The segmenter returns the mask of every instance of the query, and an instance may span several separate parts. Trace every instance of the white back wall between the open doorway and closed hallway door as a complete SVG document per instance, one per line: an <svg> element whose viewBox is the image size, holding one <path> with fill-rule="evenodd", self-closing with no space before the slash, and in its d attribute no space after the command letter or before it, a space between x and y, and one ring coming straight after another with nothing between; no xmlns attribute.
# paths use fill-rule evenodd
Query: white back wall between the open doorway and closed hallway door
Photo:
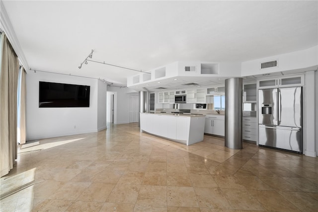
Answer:
<svg viewBox="0 0 318 212"><path fill-rule="evenodd" d="M114 95L114 124L129 123L129 96L139 95L138 92L129 88L118 88L110 86L107 91Z"/></svg>

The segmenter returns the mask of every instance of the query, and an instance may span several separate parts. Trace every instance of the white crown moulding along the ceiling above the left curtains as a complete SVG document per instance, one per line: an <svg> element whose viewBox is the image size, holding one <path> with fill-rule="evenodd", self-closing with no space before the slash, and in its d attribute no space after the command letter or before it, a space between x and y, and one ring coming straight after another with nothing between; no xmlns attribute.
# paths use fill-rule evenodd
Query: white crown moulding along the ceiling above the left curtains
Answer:
<svg viewBox="0 0 318 212"><path fill-rule="evenodd" d="M24 56L19 40L15 35L14 29L6 13L2 0L0 0L0 8L0 28L3 30L6 37L10 41L11 46L18 56L20 63L23 65L25 71L27 72L29 70L29 64L27 63L27 60Z"/></svg>

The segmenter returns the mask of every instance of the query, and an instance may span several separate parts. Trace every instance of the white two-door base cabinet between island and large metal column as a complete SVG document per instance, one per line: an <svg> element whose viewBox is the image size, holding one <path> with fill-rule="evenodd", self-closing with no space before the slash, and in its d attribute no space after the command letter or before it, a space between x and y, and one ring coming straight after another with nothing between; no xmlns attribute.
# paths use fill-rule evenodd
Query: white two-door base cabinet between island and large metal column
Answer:
<svg viewBox="0 0 318 212"><path fill-rule="evenodd" d="M225 135L224 115L206 115L204 133L213 135Z"/></svg>

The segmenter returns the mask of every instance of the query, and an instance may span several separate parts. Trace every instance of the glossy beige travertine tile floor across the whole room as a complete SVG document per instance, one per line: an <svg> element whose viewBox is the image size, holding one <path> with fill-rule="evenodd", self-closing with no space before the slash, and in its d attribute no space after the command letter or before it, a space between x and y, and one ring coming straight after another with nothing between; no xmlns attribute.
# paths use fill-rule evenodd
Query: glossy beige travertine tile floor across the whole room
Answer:
<svg viewBox="0 0 318 212"><path fill-rule="evenodd" d="M185 146L136 123L20 146L1 211L318 211L318 158L204 136Z"/></svg>

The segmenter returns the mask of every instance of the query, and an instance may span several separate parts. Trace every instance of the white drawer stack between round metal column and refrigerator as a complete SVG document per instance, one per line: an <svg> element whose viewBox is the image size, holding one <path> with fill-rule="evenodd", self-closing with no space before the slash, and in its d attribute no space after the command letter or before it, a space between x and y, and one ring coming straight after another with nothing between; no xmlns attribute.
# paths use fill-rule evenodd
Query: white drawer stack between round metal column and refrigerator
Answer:
<svg viewBox="0 0 318 212"><path fill-rule="evenodd" d="M243 127L242 138L244 140L256 141L257 139L257 120L256 117L244 116L243 117Z"/></svg>

